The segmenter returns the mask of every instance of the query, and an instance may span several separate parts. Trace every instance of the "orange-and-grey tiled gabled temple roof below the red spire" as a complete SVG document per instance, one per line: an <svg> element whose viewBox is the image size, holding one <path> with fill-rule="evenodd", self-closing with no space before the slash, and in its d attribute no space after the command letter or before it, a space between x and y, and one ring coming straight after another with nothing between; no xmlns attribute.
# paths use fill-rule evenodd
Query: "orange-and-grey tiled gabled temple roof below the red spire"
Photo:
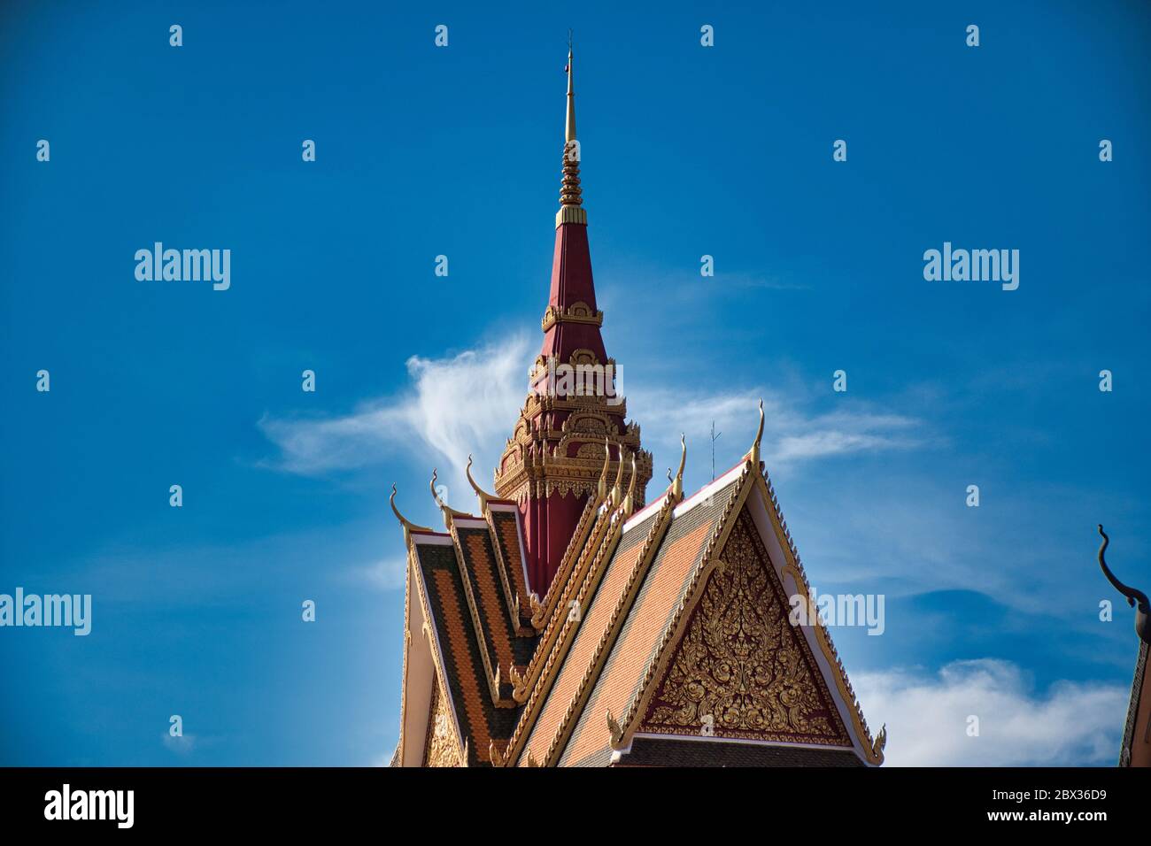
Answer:
<svg viewBox="0 0 1151 846"><path fill-rule="evenodd" d="M809 588L759 439L686 500L681 473L640 510L634 489L601 486L557 599L550 611L533 602L531 619L508 563L521 531L509 503L481 497L479 516L443 506L447 533L405 526L410 589L429 620L407 649L433 643L470 765L883 761L885 734L871 738L826 630L787 620L788 594ZM741 643L709 634L726 630L724 613L744 620ZM708 662L750 673L754 695L726 670L696 679ZM401 746L422 742L430 718L405 718Z"/></svg>

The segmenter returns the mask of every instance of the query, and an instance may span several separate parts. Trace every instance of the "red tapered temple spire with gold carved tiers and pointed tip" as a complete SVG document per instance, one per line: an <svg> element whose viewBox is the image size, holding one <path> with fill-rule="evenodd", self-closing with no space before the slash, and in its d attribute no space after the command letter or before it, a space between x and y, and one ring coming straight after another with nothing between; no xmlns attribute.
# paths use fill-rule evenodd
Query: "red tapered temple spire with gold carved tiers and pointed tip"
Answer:
<svg viewBox="0 0 1151 846"><path fill-rule="evenodd" d="M631 481L637 454L637 504L651 478L651 456L640 449L640 429L627 422L617 388L615 359L608 358L596 307L587 211L580 189L580 145L576 138L572 52L567 51L567 119L563 181L556 213L551 290L541 327L543 345L528 376L528 396L496 470L496 493L514 500L524 518L531 589L543 596L559 569L609 452L616 478L623 450L623 485Z"/></svg>

